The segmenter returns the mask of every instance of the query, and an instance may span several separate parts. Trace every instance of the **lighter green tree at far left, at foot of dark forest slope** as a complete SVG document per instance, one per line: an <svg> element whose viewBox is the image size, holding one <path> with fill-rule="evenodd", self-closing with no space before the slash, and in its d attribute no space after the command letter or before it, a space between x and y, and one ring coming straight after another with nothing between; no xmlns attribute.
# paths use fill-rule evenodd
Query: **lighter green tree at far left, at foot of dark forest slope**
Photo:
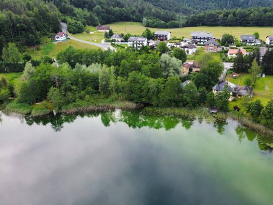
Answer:
<svg viewBox="0 0 273 205"><path fill-rule="evenodd" d="M22 61L22 55L14 43L9 43L9 47L3 49L2 58L6 63L19 63Z"/></svg>

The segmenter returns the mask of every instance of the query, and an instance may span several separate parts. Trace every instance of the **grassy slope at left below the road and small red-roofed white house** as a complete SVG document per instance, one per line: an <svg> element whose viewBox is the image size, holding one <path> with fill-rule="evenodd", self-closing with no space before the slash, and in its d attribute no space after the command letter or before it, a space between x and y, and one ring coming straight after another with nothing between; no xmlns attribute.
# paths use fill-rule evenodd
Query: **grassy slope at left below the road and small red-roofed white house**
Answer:
<svg viewBox="0 0 273 205"><path fill-rule="evenodd" d="M45 55L55 58L58 52L65 50L70 45L76 49L82 49L82 48L98 49L99 48L97 46L81 43L75 40L67 40L65 42L59 42L57 44L54 44L48 41L47 43L41 44L40 50L32 49L30 53L33 58L40 58Z"/></svg>

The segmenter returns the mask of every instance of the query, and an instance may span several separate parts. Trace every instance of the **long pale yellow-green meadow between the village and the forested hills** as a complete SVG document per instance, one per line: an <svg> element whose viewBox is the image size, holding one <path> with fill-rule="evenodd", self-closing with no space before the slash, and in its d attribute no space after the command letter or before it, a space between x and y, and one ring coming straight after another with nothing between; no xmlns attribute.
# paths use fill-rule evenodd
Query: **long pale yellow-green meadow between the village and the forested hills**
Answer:
<svg viewBox="0 0 273 205"><path fill-rule="evenodd" d="M141 35L145 30L145 27L139 22L116 22L113 24L108 24L111 29L117 33L131 33ZM176 29L158 29L149 28L151 31L161 30L170 31L171 37L191 37L191 31L207 31L213 33L215 37L220 38L223 33L230 33L236 38L240 38L241 34L253 34L254 32L259 32L260 38L265 40L266 36L273 34L272 27L223 27L223 26L199 26L199 27L185 27Z"/></svg>

